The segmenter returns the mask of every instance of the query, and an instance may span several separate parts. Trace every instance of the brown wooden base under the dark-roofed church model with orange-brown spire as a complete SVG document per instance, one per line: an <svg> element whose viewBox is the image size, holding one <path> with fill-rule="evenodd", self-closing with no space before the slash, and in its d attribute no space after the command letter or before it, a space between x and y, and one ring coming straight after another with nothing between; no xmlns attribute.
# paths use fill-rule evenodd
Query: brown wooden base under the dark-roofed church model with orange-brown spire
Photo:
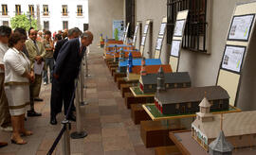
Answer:
<svg viewBox="0 0 256 155"><path fill-rule="evenodd" d="M127 109L130 109L132 104L154 103L154 96L136 97L132 93L125 93L124 97Z"/></svg>

